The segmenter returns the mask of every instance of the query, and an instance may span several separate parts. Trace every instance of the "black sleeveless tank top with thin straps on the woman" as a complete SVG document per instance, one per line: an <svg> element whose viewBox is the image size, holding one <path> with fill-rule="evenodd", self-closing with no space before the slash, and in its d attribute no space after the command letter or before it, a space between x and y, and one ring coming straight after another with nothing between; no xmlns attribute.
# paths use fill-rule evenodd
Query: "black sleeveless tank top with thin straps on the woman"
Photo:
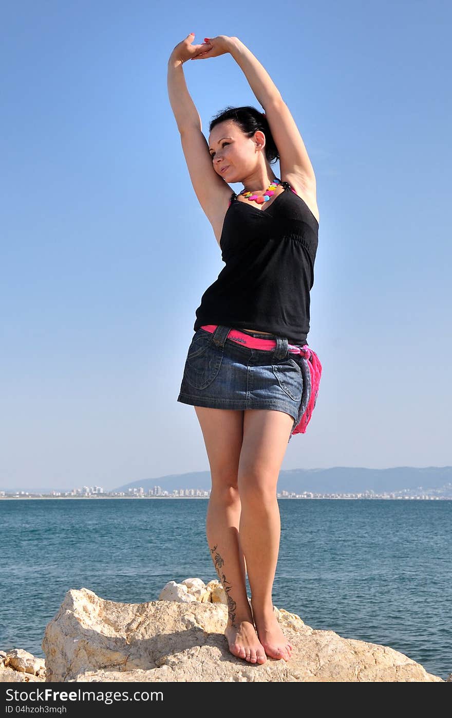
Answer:
<svg viewBox="0 0 452 718"><path fill-rule="evenodd" d="M225 266L201 298L204 324L253 329L306 344L319 223L288 182L265 210L232 192L220 237Z"/></svg>

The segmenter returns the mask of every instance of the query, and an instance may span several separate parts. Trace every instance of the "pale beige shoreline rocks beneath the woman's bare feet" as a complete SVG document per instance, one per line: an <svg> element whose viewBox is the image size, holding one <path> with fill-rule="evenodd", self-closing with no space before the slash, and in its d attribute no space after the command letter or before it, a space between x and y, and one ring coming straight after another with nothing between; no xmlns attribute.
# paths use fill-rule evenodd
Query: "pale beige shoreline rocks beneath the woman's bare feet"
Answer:
<svg viewBox="0 0 452 718"><path fill-rule="evenodd" d="M71 589L45 629L45 666L27 651L0 651L0 681L444 682L385 645L315 630L274 610L291 659L251 664L227 647L226 595L216 580L170 581L159 600L138 604Z"/></svg>

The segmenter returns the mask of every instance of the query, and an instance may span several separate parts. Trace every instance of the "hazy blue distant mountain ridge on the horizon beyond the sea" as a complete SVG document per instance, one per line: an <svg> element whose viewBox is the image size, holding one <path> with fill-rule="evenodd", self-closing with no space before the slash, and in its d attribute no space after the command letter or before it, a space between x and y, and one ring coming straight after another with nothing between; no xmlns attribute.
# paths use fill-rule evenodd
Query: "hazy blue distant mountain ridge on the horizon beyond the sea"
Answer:
<svg viewBox="0 0 452 718"><path fill-rule="evenodd" d="M147 492L154 486L160 486L169 493L174 489L185 488L209 490L210 472L196 471L141 479L111 490L127 491L142 487ZM423 493L428 489L438 488L448 490L452 496L452 466L399 466L390 469L337 466L331 469L291 469L281 470L278 479L278 492L359 493L373 490L380 494L407 489Z"/></svg>

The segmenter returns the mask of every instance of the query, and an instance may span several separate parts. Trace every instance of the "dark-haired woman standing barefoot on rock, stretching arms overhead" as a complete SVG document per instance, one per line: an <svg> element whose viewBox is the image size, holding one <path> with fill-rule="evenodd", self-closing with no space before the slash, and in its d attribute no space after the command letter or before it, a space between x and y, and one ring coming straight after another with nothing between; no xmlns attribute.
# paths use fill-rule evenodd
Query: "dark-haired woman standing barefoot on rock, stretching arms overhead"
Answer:
<svg viewBox="0 0 452 718"><path fill-rule="evenodd" d="M311 418L321 374L306 343L316 180L288 107L250 50L237 37L193 39L190 33L171 53L169 100L225 267L197 309L178 401L194 406L209 459L207 540L227 596L229 650L250 663L288 661L292 646L272 601L281 533L276 484L291 435ZM265 114L227 108L210 123L207 144L182 65L227 52ZM227 182L244 190L231 194Z"/></svg>

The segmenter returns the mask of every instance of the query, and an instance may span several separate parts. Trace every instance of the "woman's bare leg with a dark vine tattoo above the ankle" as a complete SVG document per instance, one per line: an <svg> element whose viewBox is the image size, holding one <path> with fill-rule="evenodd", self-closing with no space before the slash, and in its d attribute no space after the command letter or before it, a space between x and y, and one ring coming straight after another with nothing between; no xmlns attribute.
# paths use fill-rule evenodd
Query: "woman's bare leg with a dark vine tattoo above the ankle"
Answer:
<svg viewBox="0 0 452 718"><path fill-rule="evenodd" d="M212 475L206 533L215 570L227 596L225 636L230 652L250 663L267 660L253 624L246 592L245 558L239 541L237 470L243 441L243 411L194 407Z"/></svg>

